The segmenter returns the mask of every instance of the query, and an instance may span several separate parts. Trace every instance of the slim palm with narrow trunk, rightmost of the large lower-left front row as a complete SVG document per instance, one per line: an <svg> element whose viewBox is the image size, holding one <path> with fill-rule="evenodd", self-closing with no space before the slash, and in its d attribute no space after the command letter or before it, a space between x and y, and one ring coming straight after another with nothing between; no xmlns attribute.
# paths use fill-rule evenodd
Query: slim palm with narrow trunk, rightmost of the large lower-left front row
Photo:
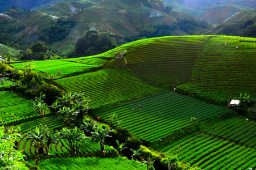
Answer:
<svg viewBox="0 0 256 170"><path fill-rule="evenodd" d="M101 151L105 151L104 143L105 143L105 138L106 137L111 137L109 134L108 129L103 129L102 125L97 126L94 128L94 132L92 132L95 141L94 142L100 142L101 145Z"/></svg>

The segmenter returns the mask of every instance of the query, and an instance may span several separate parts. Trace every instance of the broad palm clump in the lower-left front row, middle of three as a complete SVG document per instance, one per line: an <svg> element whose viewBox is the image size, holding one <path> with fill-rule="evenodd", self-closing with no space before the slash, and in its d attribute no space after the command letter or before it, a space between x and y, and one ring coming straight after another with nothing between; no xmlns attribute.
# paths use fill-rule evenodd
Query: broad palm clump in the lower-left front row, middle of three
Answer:
<svg viewBox="0 0 256 170"><path fill-rule="evenodd" d="M68 141L72 154L79 154L81 143L86 143L84 140L88 138L85 136L84 132L79 131L77 127L73 130L63 128L63 130L60 131L60 137L61 139Z"/></svg>

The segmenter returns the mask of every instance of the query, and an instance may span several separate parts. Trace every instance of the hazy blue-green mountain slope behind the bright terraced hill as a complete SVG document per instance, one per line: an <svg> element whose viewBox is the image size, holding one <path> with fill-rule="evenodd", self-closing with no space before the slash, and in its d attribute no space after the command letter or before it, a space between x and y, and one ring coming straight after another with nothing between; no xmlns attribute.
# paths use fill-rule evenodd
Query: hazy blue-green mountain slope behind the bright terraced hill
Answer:
<svg viewBox="0 0 256 170"><path fill-rule="evenodd" d="M64 54L70 52L70 44L75 46L77 39L89 29L110 32L115 39L122 41L133 41L144 37L201 35L205 29L212 28L192 15L175 10L166 14L159 10L143 3L121 0L97 4L89 1L61 2L33 11L14 7L3 13L14 23L0 22L3 27L1 39L26 47L36 41L45 41Z"/></svg>

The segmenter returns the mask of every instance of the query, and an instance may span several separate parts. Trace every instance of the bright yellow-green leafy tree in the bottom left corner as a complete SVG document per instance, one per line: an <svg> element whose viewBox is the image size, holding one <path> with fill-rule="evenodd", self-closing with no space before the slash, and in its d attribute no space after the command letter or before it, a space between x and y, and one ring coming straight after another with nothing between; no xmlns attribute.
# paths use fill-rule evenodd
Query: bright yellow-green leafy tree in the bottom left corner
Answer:
<svg viewBox="0 0 256 170"><path fill-rule="evenodd" d="M0 167L1 169L28 169L24 164L24 155L15 150L15 142L21 137L20 129L13 126L5 128L0 126Z"/></svg>

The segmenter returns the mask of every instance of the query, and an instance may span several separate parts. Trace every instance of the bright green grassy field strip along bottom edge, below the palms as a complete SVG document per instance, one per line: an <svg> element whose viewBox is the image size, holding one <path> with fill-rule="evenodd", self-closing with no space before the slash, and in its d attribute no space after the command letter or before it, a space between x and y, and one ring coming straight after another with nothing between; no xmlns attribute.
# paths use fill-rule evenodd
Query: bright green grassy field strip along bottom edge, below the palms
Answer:
<svg viewBox="0 0 256 170"><path fill-rule="evenodd" d="M28 166L34 167L34 160L27 163ZM135 162L133 160L126 160L124 158L51 158L40 160L38 166L40 169L146 169L145 164Z"/></svg>

